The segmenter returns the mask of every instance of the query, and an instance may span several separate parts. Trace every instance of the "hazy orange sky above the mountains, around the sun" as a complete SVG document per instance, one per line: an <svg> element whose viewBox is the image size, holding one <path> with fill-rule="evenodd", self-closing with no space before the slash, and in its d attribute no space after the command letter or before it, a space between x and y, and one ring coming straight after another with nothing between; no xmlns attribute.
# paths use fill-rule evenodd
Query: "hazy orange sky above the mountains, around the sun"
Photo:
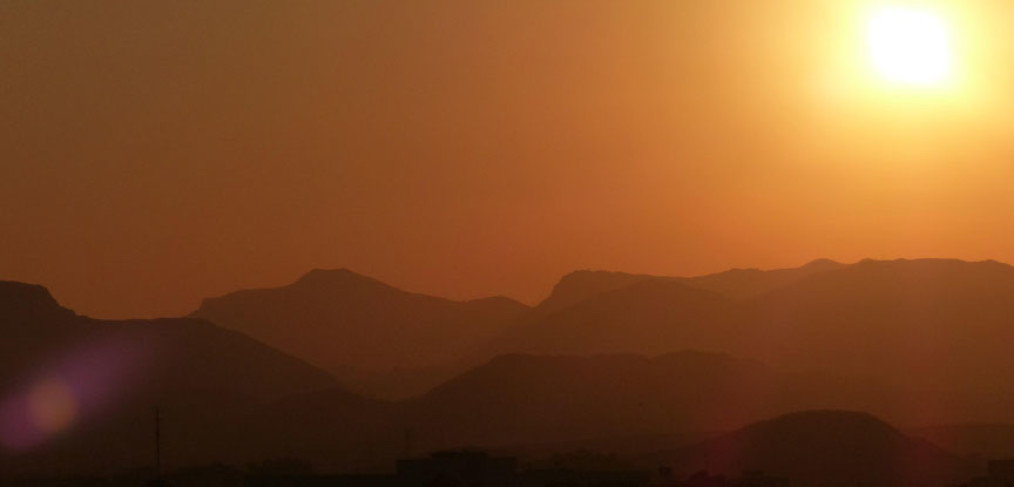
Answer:
<svg viewBox="0 0 1014 487"><path fill-rule="evenodd" d="M0 0L0 279L123 318L312 268L1014 262L1014 12L934 3L940 90L870 72L870 2Z"/></svg>

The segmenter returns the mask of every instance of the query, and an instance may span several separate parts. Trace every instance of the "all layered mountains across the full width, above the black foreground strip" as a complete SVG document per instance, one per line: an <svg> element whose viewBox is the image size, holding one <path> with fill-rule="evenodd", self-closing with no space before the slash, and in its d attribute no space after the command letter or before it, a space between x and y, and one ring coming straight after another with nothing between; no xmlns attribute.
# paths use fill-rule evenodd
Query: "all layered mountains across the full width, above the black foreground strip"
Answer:
<svg viewBox="0 0 1014 487"><path fill-rule="evenodd" d="M531 307L318 270L206 299L187 318L115 322L0 282L0 473L7 458L25 471L55 459L68 471L147 465L156 405L180 465L294 457L372 469L411 451L665 437L682 439L638 458L690 469L686 438L722 450L735 442L722 434L769 438L745 424L843 409L958 454L1002 454L1014 451L1012 320L1014 268L992 261L578 271Z"/></svg>

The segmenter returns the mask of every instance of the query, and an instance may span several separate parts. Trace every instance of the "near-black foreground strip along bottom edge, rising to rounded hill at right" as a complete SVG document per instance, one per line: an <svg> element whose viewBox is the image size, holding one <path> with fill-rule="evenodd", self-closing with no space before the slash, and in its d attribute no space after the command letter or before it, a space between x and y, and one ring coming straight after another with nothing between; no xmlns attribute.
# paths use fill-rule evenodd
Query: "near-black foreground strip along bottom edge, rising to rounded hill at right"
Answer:
<svg viewBox="0 0 1014 487"><path fill-rule="evenodd" d="M1010 462L991 464L990 484L1009 477ZM864 413L805 411L748 425L733 433L673 451L636 459L578 450L524 462L479 449L443 450L399 460L376 473L315 473L294 460L179 469L163 485L247 486L621 486L870 487L955 485L973 469L968 462L906 436ZM145 471L87 480L91 485L131 485ZM151 475L148 471L147 475ZM19 485L13 482L11 485ZM27 483L25 485L28 485ZM63 485L59 481L30 485ZM136 484L135 484L136 485ZM973 484L980 485L980 484Z"/></svg>

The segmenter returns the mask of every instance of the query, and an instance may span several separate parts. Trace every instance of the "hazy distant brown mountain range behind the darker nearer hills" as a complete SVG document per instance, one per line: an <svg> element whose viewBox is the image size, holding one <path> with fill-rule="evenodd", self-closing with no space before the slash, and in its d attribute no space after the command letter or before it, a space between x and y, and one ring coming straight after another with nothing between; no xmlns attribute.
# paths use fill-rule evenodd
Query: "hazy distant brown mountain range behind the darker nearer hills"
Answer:
<svg viewBox="0 0 1014 487"><path fill-rule="evenodd" d="M993 261L817 260L701 277L578 271L542 302L451 301L352 271L208 299L193 317L247 334L388 400L503 354L709 350L787 371L922 392L899 419L1014 420L1014 268ZM896 402L906 397L895 398Z"/></svg>

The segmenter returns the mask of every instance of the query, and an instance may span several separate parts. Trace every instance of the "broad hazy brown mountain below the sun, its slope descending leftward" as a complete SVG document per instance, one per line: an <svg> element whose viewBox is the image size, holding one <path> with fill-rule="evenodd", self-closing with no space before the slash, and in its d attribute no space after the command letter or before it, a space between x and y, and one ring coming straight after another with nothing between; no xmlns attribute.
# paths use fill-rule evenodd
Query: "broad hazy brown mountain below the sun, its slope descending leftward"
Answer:
<svg viewBox="0 0 1014 487"><path fill-rule="evenodd" d="M1014 385L1005 379L1014 371L1006 346L1014 339L1012 317L1014 268L1005 264L818 261L694 279L642 276L535 317L491 348L723 351L778 369L875 377L883 388L919 391L918 399L893 399L900 416L892 420L1002 422L1014 420Z"/></svg>

